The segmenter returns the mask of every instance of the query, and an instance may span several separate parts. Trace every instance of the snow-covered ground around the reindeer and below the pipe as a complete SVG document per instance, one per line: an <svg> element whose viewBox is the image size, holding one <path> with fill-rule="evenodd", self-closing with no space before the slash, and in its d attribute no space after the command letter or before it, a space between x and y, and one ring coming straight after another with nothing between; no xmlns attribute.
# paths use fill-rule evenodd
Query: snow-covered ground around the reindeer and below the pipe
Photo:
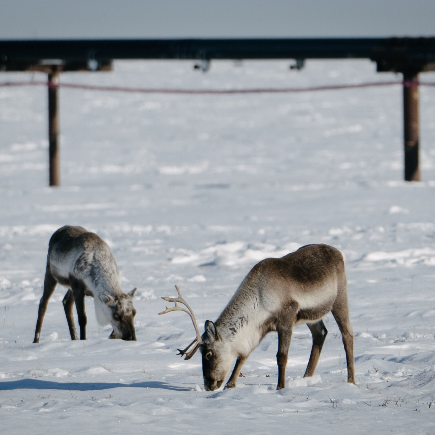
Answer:
<svg viewBox="0 0 435 435"><path fill-rule="evenodd" d="M243 88L400 80L363 60L118 62L68 83ZM28 80L2 73L0 79ZM35 80L43 76L35 74ZM422 80L435 80L422 75ZM62 187L47 187L47 90L0 88L0 432L435 434L435 89L421 88L420 183L402 181L400 86L303 94L146 95L60 90ZM108 340L87 298L71 341L58 288L32 344L47 244L64 224L110 245L137 287L136 342ZM308 243L346 254L358 386L334 318L312 378L294 329L287 388L277 336L237 388L204 391L178 284L215 320L250 268ZM202 326L201 326L202 328Z"/></svg>

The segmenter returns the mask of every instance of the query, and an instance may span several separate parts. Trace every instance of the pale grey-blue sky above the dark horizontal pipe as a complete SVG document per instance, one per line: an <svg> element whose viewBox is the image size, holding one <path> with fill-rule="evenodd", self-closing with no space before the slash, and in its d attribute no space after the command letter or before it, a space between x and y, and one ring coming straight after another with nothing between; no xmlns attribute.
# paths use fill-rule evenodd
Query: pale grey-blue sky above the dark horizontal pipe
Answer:
<svg viewBox="0 0 435 435"><path fill-rule="evenodd" d="M0 0L1 39L435 36L435 0Z"/></svg>

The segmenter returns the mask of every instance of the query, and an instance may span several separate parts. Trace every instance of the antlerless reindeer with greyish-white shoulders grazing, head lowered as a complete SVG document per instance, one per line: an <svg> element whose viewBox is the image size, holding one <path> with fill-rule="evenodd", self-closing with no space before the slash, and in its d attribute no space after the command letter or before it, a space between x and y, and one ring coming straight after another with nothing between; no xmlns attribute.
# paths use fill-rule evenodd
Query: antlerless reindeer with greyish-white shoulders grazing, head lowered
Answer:
<svg viewBox="0 0 435 435"><path fill-rule="evenodd" d="M86 340L85 296L94 298L98 323L102 326L112 325L109 338L136 340L133 322L136 310L132 302L136 288L128 294L122 291L112 251L97 234L82 227L66 225L51 236L33 343L39 343L47 304L57 283L69 288L63 303L71 340L78 340L73 316L74 302L80 325L80 340Z"/></svg>

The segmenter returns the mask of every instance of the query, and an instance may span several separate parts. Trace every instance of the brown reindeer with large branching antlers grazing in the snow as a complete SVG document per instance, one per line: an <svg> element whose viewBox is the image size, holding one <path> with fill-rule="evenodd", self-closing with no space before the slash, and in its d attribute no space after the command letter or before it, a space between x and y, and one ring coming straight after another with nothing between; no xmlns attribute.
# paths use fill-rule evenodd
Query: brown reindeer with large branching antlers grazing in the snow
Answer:
<svg viewBox="0 0 435 435"><path fill-rule="evenodd" d="M177 355L190 359L201 349L204 387L214 391L221 387L231 370L225 388L234 388L241 368L262 338L278 331L278 386L285 387L285 368L294 325L306 323L313 345L304 377L314 375L328 331L322 318L329 311L343 337L348 367L348 382L355 384L353 331L349 321L346 274L343 255L326 244L311 244L281 258L267 258L256 264L240 284L218 320L207 320L204 334L198 331L192 309L175 286L178 298L159 314L185 311L192 319L196 338ZM187 310L177 305L184 304ZM191 349L189 351L189 348Z"/></svg>

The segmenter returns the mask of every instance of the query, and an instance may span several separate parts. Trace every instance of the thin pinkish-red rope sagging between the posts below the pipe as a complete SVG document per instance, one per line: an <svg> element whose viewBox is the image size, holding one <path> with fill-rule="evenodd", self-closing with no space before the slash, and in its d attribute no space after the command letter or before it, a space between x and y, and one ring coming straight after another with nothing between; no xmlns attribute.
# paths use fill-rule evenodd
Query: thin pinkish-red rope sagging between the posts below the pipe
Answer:
<svg viewBox="0 0 435 435"><path fill-rule="evenodd" d="M289 87L289 88L257 88L257 89L153 89L153 88L133 88L133 87L119 87L119 86L96 86L86 84L72 84L72 83L54 83L52 81L27 81L27 82L6 82L0 83L0 87L13 87L13 86L41 86L45 85L53 88L69 88L69 89L83 89L83 90L105 90L116 92L136 92L143 94L279 94L279 93L292 93L292 92L310 92L316 90L340 90L340 89L353 89L361 87L372 86L391 86L401 84L405 87L415 86L435 86L432 82L413 82L413 81L384 81L384 82L370 82L359 84L341 84L341 85L325 85L325 86L311 86L311 87Z"/></svg>

